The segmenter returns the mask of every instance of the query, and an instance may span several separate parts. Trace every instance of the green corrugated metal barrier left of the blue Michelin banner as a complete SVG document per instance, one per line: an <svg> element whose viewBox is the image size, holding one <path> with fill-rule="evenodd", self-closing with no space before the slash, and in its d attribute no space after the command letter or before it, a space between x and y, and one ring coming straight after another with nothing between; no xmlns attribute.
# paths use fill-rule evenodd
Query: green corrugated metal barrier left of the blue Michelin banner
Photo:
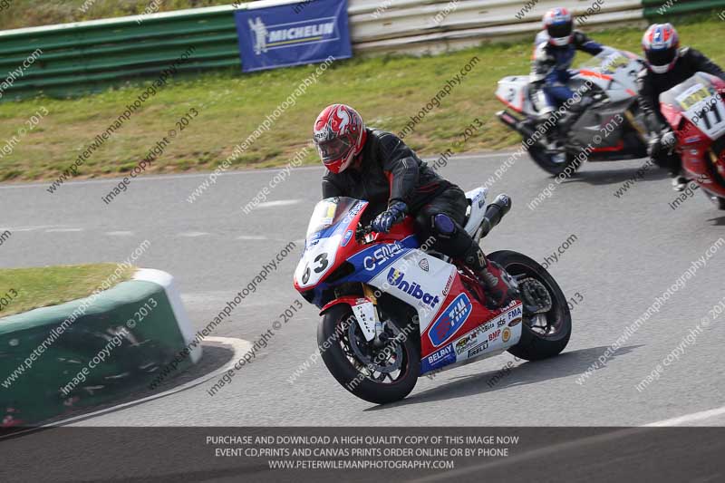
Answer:
<svg viewBox="0 0 725 483"><path fill-rule="evenodd" d="M2 99L101 91L120 81L151 79L194 47L178 72L240 68L232 8L208 8L0 32ZM40 49L42 53L30 62ZM18 69L29 64L22 75ZM15 72L15 74L13 74ZM10 78L10 82L8 82ZM12 85L10 85L12 83Z"/></svg>

